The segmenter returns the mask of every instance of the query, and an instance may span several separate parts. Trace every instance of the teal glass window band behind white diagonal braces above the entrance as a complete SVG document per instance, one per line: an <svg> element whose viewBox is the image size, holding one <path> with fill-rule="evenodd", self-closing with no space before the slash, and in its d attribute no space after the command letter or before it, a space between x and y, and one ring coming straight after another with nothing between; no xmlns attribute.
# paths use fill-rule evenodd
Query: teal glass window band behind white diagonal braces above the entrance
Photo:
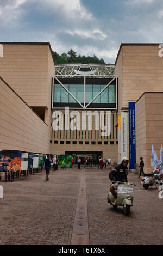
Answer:
<svg viewBox="0 0 163 256"><path fill-rule="evenodd" d="M84 84L64 84L69 92L80 102L84 102ZM104 84L85 84L85 102L89 103L101 90ZM76 103L76 100L60 85L54 84L55 103ZM116 103L116 86L110 84L92 103Z"/></svg>

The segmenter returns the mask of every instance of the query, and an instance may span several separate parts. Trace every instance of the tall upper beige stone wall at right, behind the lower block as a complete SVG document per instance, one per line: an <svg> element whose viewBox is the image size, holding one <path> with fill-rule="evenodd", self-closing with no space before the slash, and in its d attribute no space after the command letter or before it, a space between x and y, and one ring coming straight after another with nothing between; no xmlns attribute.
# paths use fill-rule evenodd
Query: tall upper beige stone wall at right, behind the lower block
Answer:
<svg viewBox="0 0 163 256"><path fill-rule="evenodd" d="M162 92L163 57L156 45L122 46L115 74L118 76L118 109L127 108L144 92ZM122 82L121 82L122 79Z"/></svg>

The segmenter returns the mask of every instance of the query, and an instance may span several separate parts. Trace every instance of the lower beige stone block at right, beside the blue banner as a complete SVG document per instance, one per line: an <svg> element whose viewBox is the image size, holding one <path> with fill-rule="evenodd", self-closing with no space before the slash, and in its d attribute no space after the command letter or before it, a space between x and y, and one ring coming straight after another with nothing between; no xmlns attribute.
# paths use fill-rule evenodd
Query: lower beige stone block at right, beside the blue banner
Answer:
<svg viewBox="0 0 163 256"><path fill-rule="evenodd" d="M160 158L163 145L163 93L145 93L136 102L136 162L143 157L145 172L151 172L151 150Z"/></svg>

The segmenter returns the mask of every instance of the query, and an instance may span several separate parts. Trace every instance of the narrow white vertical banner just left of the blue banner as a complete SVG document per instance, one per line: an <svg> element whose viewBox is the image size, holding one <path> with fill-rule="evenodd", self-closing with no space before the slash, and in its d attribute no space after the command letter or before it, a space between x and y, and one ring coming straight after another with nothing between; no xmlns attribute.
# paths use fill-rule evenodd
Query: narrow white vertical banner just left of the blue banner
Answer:
<svg viewBox="0 0 163 256"><path fill-rule="evenodd" d="M121 113L121 159L127 157L127 113Z"/></svg>

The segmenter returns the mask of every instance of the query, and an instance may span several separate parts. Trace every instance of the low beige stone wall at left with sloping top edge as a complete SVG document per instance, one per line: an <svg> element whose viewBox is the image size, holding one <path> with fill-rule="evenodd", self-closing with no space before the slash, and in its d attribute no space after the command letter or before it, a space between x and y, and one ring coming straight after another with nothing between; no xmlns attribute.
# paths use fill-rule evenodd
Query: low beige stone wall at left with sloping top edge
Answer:
<svg viewBox="0 0 163 256"><path fill-rule="evenodd" d="M49 153L48 126L0 78L0 150Z"/></svg>

